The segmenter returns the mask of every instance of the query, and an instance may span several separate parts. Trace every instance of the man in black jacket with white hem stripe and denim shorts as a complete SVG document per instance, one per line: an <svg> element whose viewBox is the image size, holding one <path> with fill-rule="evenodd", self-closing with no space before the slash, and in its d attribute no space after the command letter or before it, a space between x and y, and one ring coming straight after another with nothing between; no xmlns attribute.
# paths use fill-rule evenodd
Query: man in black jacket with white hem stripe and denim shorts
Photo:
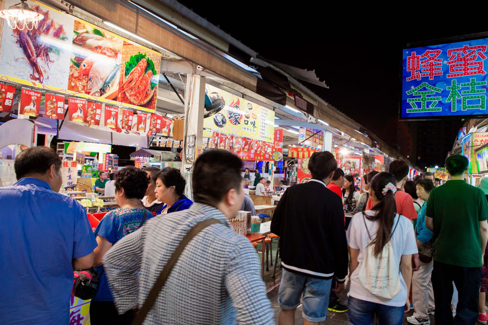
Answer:
<svg viewBox="0 0 488 325"><path fill-rule="evenodd" d="M327 318L332 278L333 291L344 290L347 276L347 241L341 198L326 188L337 161L332 153L313 153L308 162L312 179L285 191L271 222L280 236L283 274L278 294L280 324L293 324L303 295L304 324Z"/></svg>

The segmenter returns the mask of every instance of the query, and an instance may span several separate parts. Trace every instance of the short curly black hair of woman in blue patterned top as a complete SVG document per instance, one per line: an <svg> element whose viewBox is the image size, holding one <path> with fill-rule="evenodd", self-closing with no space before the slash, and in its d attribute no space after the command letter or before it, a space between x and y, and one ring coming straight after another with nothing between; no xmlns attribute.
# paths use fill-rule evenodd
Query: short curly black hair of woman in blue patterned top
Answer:
<svg viewBox="0 0 488 325"><path fill-rule="evenodd" d="M142 199L149 185L149 178L146 172L134 166L127 166L117 172L115 190L123 189L124 195L128 199Z"/></svg>

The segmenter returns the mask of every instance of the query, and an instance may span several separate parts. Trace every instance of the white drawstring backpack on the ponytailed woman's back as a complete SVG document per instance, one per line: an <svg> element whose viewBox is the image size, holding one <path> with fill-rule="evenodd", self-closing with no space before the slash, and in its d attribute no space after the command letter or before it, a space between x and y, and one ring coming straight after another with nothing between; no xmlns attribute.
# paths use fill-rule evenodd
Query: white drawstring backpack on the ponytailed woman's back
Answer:
<svg viewBox="0 0 488 325"><path fill-rule="evenodd" d="M391 236L395 232L400 216L398 216L395 228L391 232ZM394 219L393 219L394 220ZM363 221L366 227L366 220L363 214ZM385 301L393 299L401 290L400 277L398 276L399 265L395 259L395 251L390 240L383 247L383 251L374 255L374 243L372 243L371 235L366 227L369 236L369 244L363 254L363 264L359 270L359 282L376 297Z"/></svg>

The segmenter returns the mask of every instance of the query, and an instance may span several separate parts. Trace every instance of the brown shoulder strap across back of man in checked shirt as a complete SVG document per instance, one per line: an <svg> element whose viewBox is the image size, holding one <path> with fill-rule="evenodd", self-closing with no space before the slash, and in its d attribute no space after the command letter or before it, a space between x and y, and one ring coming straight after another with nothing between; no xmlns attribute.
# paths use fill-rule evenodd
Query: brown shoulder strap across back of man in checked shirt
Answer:
<svg viewBox="0 0 488 325"><path fill-rule="evenodd" d="M132 325L141 325L144 322L144 319L146 318L147 314L149 313L152 306L156 302L156 299L158 298L159 293L163 289L164 284L166 283L166 280L169 274L171 273L171 270L175 266L176 262L178 261L178 258L180 257L186 245L193 239L193 237L195 237L200 231L202 231L206 227L214 224L220 224L220 223L221 222L217 219L206 219L199 222L192 229L190 229L190 231L188 231L188 233L183 237L183 240L180 242L176 250L173 252L173 254L171 254L171 257L169 258L166 265L163 267L163 270L159 274L158 279L156 279L156 282L151 288L151 291L149 291L146 301L144 301L144 304L142 305L141 309L139 309L139 312L137 313L134 321L132 322Z"/></svg>

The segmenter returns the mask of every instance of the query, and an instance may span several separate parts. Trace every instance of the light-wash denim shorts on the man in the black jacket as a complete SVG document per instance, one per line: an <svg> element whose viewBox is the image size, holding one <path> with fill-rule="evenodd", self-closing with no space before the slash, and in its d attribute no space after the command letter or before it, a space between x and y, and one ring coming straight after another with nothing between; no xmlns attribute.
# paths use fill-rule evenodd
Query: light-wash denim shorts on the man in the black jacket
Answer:
<svg viewBox="0 0 488 325"><path fill-rule="evenodd" d="M323 322L327 318L331 282L332 279L311 278L283 268L278 304L285 310L295 309L303 296L303 318L312 323Z"/></svg>

